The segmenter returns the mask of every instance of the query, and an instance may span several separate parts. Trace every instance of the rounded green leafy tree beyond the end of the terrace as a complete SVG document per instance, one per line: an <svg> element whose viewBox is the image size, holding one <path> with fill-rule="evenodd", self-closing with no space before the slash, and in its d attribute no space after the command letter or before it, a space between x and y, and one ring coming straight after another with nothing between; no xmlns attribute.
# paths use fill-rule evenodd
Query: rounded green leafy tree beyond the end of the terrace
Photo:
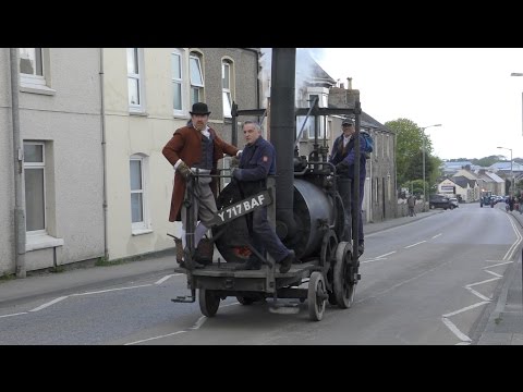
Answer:
<svg viewBox="0 0 523 392"><path fill-rule="evenodd" d="M404 186L412 180L423 181L423 142L425 139L425 176L427 182L436 180L439 161L431 159L433 144L417 124L409 119L398 119L385 123L396 132L396 168L398 184ZM440 162L440 161L439 161Z"/></svg>

